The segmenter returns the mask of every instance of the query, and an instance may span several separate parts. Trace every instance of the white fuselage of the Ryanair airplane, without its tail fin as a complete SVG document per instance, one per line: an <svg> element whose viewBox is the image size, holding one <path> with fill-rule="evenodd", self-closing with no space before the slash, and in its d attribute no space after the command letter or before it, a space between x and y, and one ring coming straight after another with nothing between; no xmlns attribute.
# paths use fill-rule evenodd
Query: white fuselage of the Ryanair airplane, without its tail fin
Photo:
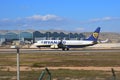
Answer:
<svg viewBox="0 0 120 80"><path fill-rule="evenodd" d="M34 43L37 47L49 47L51 45L57 45L60 43L61 40L39 40L37 43ZM87 45L92 45L94 44L93 41L88 41L88 40L62 40L62 43L65 46L87 46Z"/></svg>

